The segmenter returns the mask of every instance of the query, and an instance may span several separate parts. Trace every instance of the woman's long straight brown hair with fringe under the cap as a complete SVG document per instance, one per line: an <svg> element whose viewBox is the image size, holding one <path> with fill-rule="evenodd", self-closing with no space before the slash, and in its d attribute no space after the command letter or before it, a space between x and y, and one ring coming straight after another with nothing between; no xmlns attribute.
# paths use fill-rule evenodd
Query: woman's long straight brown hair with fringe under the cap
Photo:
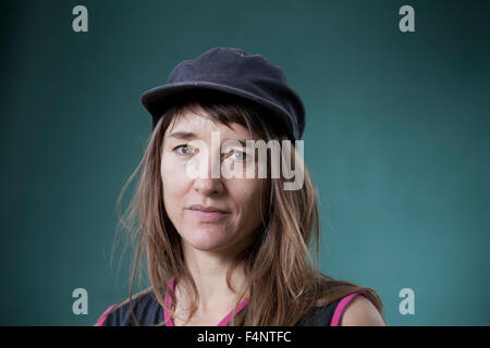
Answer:
<svg viewBox="0 0 490 348"><path fill-rule="evenodd" d="M199 294L186 268L180 235L166 213L163 206L162 182L160 176L161 149L166 129L183 113L210 115L229 125L238 123L250 134L261 136L266 142L271 139L287 139L284 129L268 122L266 109L225 95L198 92L175 98L167 112L156 124L146 140L146 149L138 166L130 176L118 199L119 227L128 231L135 245L131 271L130 296L115 306L115 311L130 303L133 320L133 300L143 294L152 291L158 302L173 316L176 302L175 293L169 282L188 284L192 290L193 306L191 316L197 309ZM297 156L292 151L293 163L298 164ZM304 165L304 164L303 164ZM136 192L130 206L121 215L121 201L128 184L140 172ZM269 177L269 176L268 176ZM256 243L244 250L230 266L226 283L236 293L235 308L244 294L249 294L248 304L230 322L231 325L294 325L310 309L326 306L338 299L363 290L376 306L382 316L382 301L376 290L360 287L350 282L333 279L318 269L320 221L318 195L306 166L304 166L304 185L298 190L284 190L284 178L269 178L269 194L262 199L269 206L262 219ZM315 263L309 252L310 239L314 237ZM133 295L133 285L138 270L142 276L142 256L146 256L147 275L151 286ZM247 282L241 289L231 287L231 274L238 265L245 265ZM172 308L164 303L164 294L172 298ZM383 319L384 320L384 319ZM136 323L138 324L138 323ZM160 323L159 325L163 325Z"/></svg>

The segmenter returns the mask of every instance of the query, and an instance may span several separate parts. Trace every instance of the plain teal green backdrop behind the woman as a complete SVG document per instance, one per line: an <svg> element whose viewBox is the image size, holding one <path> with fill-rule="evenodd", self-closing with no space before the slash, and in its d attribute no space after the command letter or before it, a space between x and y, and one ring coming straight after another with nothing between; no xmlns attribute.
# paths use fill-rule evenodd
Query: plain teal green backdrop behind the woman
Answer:
<svg viewBox="0 0 490 348"><path fill-rule="evenodd" d="M88 9L88 33L72 9ZM415 33L399 9L415 9ZM91 325L127 295L115 201L139 95L211 47L283 67L307 110L321 269L390 325L489 325L489 1L2 1L1 325ZM118 259L117 259L118 260ZM88 291L74 315L72 291ZM415 314L402 315L402 288Z"/></svg>

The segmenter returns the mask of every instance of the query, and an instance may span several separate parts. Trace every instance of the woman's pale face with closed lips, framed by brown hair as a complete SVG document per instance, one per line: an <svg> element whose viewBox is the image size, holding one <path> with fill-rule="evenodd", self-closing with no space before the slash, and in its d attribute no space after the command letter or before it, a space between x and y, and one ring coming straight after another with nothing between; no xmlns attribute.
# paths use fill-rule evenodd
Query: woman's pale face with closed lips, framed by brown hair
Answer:
<svg viewBox="0 0 490 348"><path fill-rule="evenodd" d="M246 152L245 147L235 144L222 149L222 145L226 140L250 139L249 133L237 123L231 123L230 127L185 110L164 133L160 167L163 201L184 248L238 252L254 241L253 233L262 223L268 207L267 179L257 175L225 178L221 172L220 177L211 175L211 161L246 165L243 154L237 152ZM218 132L212 142L211 132ZM216 135L219 135L219 141ZM207 151L203 147L197 148L196 140L207 147ZM189 175L188 166L196 169L196 165L205 163L207 175ZM264 201L261 206L260 199ZM224 212L204 212L193 206L213 207Z"/></svg>

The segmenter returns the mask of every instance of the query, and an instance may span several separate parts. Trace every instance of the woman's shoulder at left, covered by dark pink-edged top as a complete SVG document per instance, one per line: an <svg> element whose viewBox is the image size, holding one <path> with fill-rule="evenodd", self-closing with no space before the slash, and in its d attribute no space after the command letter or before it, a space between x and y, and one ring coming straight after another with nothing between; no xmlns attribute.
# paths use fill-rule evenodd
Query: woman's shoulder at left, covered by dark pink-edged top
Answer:
<svg viewBox="0 0 490 348"><path fill-rule="evenodd" d="M133 297L131 302L127 299L109 307L100 315L96 326L155 325L161 316L162 308L154 293L145 290Z"/></svg>

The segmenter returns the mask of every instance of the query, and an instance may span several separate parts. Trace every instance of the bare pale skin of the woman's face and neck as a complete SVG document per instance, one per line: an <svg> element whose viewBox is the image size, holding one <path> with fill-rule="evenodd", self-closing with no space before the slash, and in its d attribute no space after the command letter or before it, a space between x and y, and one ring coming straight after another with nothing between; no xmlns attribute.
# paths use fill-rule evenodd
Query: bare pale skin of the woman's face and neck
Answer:
<svg viewBox="0 0 490 348"><path fill-rule="evenodd" d="M215 163L228 165L243 159L237 151L246 148L235 145L221 149L226 140L256 138L250 138L240 124L232 123L229 128L201 113L186 110L166 130L160 172L166 211L182 238L185 262L199 291L198 310L188 325L217 325L236 299L226 286L226 268L255 240L254 232L260 226L267 207L266 202L262 206L258 202L261 196L265 198L268 184L262 178L211 177L211 156L217 160ZM194 133L194 136L186 139L172 136L182 132ZM211 144L211 132L220 133L220 144ZM209 151L188 146L192 140L204 141ZM189 177L186 166L197 165L199 161L208 161L208 177ZM228 214L216 222L203 222L188 210L192 204L213 206ZM244 282L243 268L238 268L232 274L232 287ZM180 315L175 315L174 324L180 325L188 312L188 301L184 286L177 284L175 290Z"/></svg>

